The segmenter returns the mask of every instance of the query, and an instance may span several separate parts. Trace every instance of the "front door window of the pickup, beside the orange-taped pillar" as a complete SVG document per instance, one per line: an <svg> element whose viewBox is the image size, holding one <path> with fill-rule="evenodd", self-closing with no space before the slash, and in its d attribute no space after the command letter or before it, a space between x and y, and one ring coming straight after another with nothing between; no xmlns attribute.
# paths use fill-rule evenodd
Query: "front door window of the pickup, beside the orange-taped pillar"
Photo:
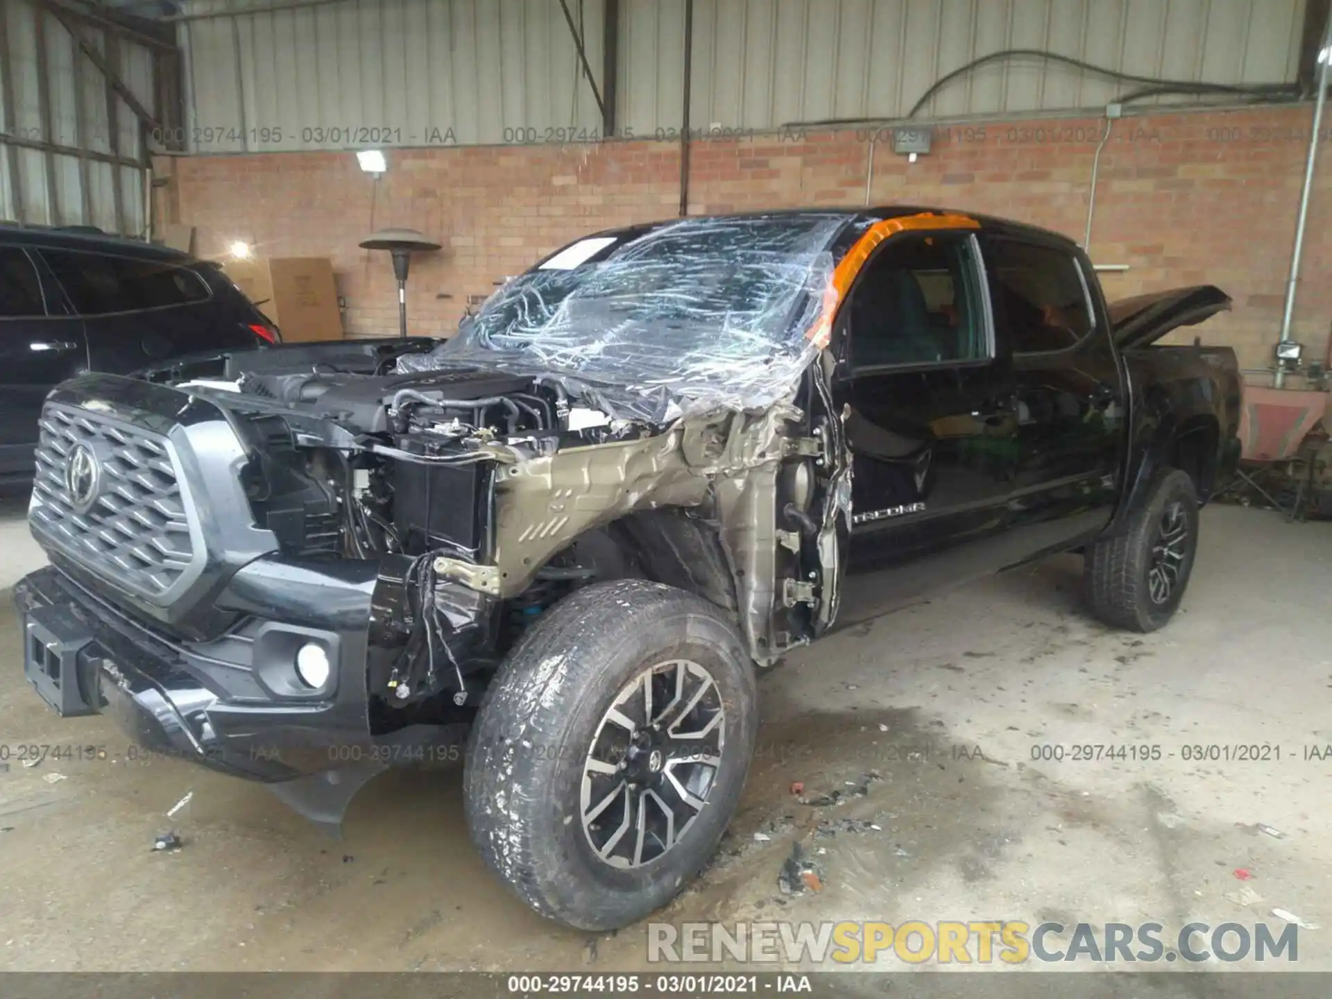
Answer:
<svg viewBox="0 0 1332 999"><path fill-rule="evenodd" d="M988 356L972 244L964 236L890 240L851 292L851 364L940 364Z"/></svg>

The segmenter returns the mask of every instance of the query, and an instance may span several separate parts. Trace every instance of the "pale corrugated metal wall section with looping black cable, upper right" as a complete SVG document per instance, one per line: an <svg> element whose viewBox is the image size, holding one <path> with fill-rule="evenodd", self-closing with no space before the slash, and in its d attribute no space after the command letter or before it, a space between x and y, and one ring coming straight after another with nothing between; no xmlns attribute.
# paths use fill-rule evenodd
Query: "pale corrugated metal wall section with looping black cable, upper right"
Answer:
<svg viewBox="0 0 1332 999"><path fill-rule="evenodd" d="M681 120L683 0L626 3L627 120L670 128ZM1303 17L1303 0L695 0L691 117L745 129L903 117L943 75L1018 48L1140 76L1288 83ZM958 79L920 115L1095 108L1126 89L1024 60Z"/></svg>

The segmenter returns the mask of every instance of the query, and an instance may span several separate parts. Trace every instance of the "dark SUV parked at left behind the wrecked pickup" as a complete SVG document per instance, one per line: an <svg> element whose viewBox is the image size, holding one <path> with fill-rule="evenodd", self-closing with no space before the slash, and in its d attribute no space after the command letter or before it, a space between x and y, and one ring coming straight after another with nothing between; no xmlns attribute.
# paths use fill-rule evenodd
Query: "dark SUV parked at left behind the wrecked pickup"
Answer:
<svg viewBox="0 0 1332 999"><path fill-rule="evenodd" d="M216 264L92 229L0 226L0 482L32 480L57 382L277 336Z"/></svg>

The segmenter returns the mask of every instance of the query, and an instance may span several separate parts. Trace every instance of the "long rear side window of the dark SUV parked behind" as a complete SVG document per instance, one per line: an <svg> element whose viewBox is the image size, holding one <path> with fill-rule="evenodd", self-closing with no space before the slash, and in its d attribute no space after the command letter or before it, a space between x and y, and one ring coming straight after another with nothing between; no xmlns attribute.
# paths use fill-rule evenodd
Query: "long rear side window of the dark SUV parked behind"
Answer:
<svg viewBox="0 0 1332 999"><path fill-rule="evenodd" d="M43 250L75 309L84 316L160 309L208 298L208 286L192 270L152 260L103 253Z"/></svg>

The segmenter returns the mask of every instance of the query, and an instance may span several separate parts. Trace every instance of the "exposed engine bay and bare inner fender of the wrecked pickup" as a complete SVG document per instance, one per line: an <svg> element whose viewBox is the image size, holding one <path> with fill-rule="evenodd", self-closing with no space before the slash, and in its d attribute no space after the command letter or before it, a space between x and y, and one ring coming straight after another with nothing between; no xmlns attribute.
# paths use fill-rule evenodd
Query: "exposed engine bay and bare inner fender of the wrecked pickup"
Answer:
<svg viewBox="0 0 1332 999"><path fill-rule="evenodd" d="M783 404L657 424L551 376L398 370L418 352L148 373L229 414L256 526L284 554L380 562L372 633L401 654L368 677L373 729L474 707L525 630L590 582L699 593L763 665L831 623L850 470L817 365Z"/></svg>

